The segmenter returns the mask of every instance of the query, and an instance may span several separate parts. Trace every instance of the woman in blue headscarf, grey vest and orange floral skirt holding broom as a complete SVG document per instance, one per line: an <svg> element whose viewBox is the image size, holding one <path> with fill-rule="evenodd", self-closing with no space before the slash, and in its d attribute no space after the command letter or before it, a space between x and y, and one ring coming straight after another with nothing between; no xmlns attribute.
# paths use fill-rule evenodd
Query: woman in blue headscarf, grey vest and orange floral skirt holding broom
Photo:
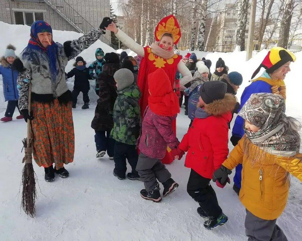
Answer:
<svg viewBox="0 0 302 241"><path fill-rule="evenodd" d="M26 122L32 120L33 157L39 166L44 167L45 181L53 181L55 173L61 178L68 177L69 173L63 165L72 162L74 157L72 96L65 81L67 62L98 40L103 34L102 29L109 23L110 19L104 18L100 28L62 45L53 41L48 23L35 21L20 61L14 62L21 70L17 79L19 108Z"/></svg>

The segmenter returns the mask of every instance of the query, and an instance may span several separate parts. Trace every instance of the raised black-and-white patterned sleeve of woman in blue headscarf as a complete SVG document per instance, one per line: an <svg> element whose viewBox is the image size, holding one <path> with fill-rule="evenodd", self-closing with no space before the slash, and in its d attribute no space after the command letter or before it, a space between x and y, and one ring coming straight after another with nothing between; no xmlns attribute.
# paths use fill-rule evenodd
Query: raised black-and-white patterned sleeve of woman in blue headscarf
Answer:
<svg viewBox="0 0 302 241"><path fill-rule="evenodd" d="M68 60L78 56L83 50L87 49L96 40L98 40L102 34L103 31L100 28L97 28L76 40L66 41L64 43L64 51Z"/></svg>

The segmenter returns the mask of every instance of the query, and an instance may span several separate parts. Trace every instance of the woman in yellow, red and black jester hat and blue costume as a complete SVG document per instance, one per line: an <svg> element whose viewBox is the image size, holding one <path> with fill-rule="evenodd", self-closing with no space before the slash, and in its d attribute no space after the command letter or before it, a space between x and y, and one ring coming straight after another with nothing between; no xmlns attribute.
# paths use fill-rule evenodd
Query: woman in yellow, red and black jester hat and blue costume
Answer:
<svg viewBox="0 0 302 241"><path fill-rule="evenodd" d="M292 52L281 47L271 48L271 50L268 51L267 56L265 56L263 59L262 63L253 73L251 80L252 83L244 89L241 95L240 109L250 98L251 94L255 93L279 94L286 99L286 87L284 79L286 74L290 71L290 63L294 62L295 60L296 57ZM265 68L265 71L260 77L254 79L262 67ZM237 115L231 137L233 146L236 146L238 141L244 135L243 123L243 118ZM236 167L233 186L234 191L238 195L241 188L241 171L242 165L239 164Z"/></svg>

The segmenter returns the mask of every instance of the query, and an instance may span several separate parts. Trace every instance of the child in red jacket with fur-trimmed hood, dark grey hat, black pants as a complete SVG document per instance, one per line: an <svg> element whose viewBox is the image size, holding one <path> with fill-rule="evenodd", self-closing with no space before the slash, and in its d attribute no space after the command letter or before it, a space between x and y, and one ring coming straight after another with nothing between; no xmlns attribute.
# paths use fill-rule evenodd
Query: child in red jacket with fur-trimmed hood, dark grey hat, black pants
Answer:
<svg viewBox="0 0 302 241"><path fill-rule="evenodd" d="M215 191L210 185L213 172L220 168L228 154L228 122L237 103L232 94L226 94L227 84L209 81L200 86L199 103L195 118L178 148L171 151L172 158L188 152L185 167L191 168L187 185L189 195L199 203L197 212L208 220L207 229L227 222Z"/></svg>

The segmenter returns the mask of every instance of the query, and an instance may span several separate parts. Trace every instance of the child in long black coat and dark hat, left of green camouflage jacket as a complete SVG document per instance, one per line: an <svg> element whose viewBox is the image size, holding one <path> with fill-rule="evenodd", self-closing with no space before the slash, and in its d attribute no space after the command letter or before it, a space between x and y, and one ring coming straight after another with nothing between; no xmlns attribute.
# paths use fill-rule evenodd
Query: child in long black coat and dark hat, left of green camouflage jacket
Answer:
<svg viewBox="0 0 302 241"><path fill-rule="evenodd" d="M94 118L91 122L92 129L96 134L96 158L101 158L106 154L109 159L113 159L114 139L110 138L110 131L113 128L113 106L117 98L116 82L113 75L119 69L120 61L116 53L106 53L106 64L103 72L98 75L99 99L97 100Z"/></svg>

